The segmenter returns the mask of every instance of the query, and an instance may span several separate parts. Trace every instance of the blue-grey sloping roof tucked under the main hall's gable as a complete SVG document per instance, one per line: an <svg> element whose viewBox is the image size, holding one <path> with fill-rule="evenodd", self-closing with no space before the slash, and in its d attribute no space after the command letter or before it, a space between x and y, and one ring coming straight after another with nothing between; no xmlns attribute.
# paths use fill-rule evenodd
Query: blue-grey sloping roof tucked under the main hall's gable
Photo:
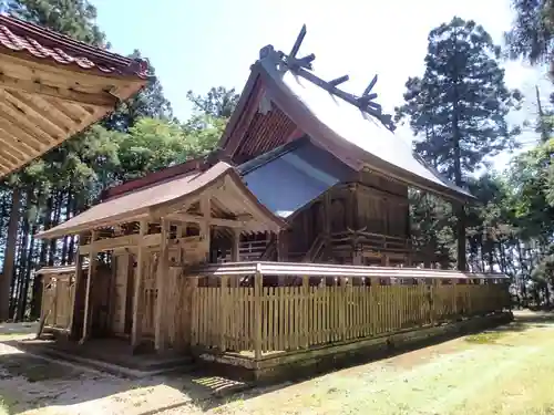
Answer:
<svg viewBox="0 0 554 415"><path fill-rule="evenodd" d="M258 200L281 218L290 217L332 186L353 177L348 166L307 137L247 162L238 170Z"/></svg>

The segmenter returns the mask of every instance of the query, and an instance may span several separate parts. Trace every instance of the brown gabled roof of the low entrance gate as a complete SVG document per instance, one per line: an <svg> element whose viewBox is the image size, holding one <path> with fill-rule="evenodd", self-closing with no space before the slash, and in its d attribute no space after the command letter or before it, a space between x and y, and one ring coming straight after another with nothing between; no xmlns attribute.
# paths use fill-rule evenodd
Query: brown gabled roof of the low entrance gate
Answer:
<svg viewBox="0 0 554 415"><path fill-rule="evenodd" d="M157 209L183 209L207 189L211 189L211 197L217 201L217 208L225 215L252 216L252 220L245 222L246 231L277 231L286 226L246 188L234 167L219 162L206 170L188 172L136 191L112 197L52 229L38 234L38 237L59 238L122 222L155 218L158 215Z"/></svg>

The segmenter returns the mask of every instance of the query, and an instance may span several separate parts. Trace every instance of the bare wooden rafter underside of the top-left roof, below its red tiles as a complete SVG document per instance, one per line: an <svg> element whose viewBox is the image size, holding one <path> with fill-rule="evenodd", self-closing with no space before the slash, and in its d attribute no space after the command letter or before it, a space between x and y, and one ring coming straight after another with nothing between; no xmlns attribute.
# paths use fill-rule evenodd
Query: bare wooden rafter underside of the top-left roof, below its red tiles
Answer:
<svg viewBox="0 0 554 415"><path fill-rule="evenodd" d="M95 123L146 82L0 46L0 178Z"/></svg>

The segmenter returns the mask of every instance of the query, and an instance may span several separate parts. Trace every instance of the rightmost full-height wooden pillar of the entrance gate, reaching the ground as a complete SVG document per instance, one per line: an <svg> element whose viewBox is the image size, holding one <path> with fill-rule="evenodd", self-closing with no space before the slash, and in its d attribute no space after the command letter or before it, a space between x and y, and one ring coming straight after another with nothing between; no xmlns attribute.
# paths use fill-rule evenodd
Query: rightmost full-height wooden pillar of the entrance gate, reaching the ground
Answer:
<svg viewBox="0 0 554 415"><path fill-rule="evenodd" d="M162 239L160 241L160 260L157 262L157 274L156 274L156 319L154 326L154 345L156 351L161 352L165 349L167 330L165 321L165 305L166 305L166 291L167 291L167 280L170 272L170 222L167 219L162 218L161 220Z"/></svg>

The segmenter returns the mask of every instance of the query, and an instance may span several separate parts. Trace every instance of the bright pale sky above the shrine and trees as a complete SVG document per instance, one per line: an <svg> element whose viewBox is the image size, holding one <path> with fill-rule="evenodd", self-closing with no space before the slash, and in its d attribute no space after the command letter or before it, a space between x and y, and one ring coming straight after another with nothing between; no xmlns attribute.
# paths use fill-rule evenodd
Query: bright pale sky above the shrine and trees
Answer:
<svg viewBox="0 0 554 415"><path fill-rule="evenodd" d="M308 33L299 55L315 53L324 79L348 74L341 87L361 94L377 73L375 92L384 111L402 104L409 76L423 73L429 31L454 15L482 24L496 43L512 22L510 0L92 0L112 50L138 49L155 66L175 115L186 120L186 93L223 85L242 91L250 65L266 44L288 52L304 23ZM534 86L547 96L544 69L509 62L506 83L530 100L513 122L536 112ZM407 127L398 134L411 139ZM532 142L529 133L520 139ZM500 155L502 168L510 155Z"/></svg>

